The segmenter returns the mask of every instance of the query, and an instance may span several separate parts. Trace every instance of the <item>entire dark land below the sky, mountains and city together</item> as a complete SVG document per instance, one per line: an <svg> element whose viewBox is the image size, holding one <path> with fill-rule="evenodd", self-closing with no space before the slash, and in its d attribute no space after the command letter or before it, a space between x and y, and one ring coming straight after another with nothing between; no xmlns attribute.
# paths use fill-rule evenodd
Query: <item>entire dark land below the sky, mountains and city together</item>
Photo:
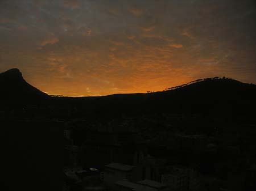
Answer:
<svg viewBox="0 0 256 191"><path fill-rule="evenodd" d="M256 190L254 84L72 98L17 70L0 82L1 190Z"/></svg>

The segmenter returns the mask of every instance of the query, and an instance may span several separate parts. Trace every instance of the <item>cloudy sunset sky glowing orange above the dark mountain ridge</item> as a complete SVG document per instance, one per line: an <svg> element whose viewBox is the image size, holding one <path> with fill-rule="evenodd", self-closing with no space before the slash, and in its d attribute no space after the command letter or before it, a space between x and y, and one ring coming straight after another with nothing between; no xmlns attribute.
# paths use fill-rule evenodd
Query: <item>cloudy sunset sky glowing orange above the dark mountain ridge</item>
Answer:
<svg viewBox="0 0 256 191"><path fill-rule="evenodd" d="M1 0L0 73L50 95L256 83L254 0Z"/></svg>

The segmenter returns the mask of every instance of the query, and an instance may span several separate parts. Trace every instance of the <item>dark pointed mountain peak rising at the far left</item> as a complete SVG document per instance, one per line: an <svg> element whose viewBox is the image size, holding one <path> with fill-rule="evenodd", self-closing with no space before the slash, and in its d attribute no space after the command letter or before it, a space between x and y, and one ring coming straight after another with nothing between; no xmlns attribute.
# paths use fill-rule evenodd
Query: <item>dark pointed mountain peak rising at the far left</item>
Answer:
<svg viewBox="0 0 256 191"><path fill-rule="evenodd" d="M10 69L0 74L0 98L3 103L35 103L49 96L31 86L23 79L19 69Z"/></svg>

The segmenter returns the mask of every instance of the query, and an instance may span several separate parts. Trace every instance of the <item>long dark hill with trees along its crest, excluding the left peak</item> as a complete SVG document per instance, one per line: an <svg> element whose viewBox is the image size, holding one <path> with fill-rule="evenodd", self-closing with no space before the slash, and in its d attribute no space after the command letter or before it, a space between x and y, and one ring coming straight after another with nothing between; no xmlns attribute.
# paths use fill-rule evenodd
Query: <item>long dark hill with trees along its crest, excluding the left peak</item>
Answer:
<svg viewBox="0 0 256 191"><path fill-rule="evenodd" d="M99 97L57 97L55 104L102 115L178 113L247 115L256 106L256 85L234 79L206 79L174 90Z"/></svg>

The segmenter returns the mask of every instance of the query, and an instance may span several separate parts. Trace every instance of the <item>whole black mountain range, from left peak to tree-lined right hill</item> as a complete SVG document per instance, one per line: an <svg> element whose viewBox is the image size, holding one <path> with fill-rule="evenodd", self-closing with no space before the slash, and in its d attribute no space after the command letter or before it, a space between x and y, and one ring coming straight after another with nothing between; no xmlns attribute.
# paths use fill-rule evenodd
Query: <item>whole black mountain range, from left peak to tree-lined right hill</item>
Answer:
<svg viewBox="0 0 256 191"><path fill-rule="evenodd" d="M256 85L229 78L207 78L195 83L146 94L98 97L50 97L28 84L18 69L0 74L3 103L37 103L76 108L80 114L201 113L247 115L256 106ZM46 103L46 102L44 102Z"/></svg>

